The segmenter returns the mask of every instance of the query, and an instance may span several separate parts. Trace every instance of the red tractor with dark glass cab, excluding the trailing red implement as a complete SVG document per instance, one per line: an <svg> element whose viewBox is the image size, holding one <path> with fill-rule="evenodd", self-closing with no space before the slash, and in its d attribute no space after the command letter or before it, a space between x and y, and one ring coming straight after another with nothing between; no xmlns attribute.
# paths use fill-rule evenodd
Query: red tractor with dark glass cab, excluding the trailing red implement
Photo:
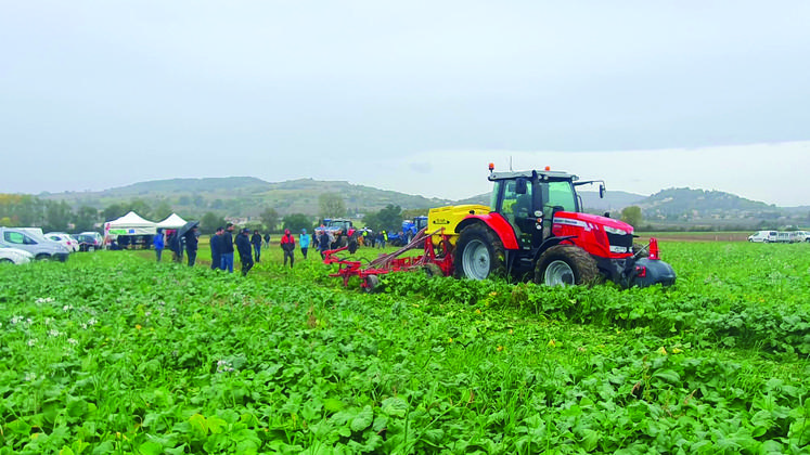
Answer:
<svg viewBox="0 0 810 455"><path fill-rule="evenodd" d="M622 287L674 283L672 266L658 257L652 238L633 245L633 226L607 217L581 212L576 187L602 181L579 181L566 172L494 172L491 211L470 210L454 231L453 269L459 277L484 280L493 274L533 276L547 285L579 285L600 277ZM455 224L452 226L452 224ZM430 220L428 231L435 227ZM451 235L452 235L451 231Z"/></svg>

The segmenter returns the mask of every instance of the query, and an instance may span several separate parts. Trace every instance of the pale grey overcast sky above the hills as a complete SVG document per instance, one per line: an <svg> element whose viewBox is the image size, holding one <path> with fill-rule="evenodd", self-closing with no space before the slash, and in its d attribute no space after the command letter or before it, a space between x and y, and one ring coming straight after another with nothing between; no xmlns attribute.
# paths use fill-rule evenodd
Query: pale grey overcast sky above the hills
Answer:
<svg viewBox="0 0 810 455"><path fill-rule="evenodd" d="M463 198L487 162L810 205L810 2L0 0L0 192Z"/></svg>

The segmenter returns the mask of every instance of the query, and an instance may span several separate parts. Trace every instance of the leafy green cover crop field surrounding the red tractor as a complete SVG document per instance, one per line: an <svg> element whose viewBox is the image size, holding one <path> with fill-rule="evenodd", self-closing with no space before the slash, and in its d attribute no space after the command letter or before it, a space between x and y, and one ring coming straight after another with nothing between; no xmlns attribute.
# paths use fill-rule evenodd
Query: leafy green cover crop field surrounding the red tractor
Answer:
<svg viewBox="0 0 810 455"><path fill-rule="evenodd" d="M373 257L376 250L361 250ZM661 243L673 288L150 251L0 266L0 454L810 452L810 245Z"/></svg>

